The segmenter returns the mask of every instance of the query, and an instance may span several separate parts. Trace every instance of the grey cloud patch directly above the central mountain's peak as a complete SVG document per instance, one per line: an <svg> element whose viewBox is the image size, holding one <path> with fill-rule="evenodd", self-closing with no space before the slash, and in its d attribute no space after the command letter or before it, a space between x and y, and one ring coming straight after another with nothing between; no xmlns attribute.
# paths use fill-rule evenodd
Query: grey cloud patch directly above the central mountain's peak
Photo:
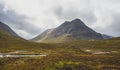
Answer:
<svg viewBox="0 0 120 70"><path fill-rule="evenodd" d="M54 9L54 12L59 19L73 20L75 18L80 18L88 23L88 25L91 25L93 22L97 21L96 15L94 14L94 9L79 10L78 7L64 8L59 6Z"/></svg>

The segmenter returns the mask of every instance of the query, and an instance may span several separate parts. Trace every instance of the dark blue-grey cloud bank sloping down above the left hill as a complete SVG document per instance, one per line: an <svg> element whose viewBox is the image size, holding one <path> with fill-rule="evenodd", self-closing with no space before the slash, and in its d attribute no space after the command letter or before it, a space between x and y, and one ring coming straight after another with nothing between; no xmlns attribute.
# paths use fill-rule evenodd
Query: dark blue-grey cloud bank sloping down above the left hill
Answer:
<svg viewBox="0 0 120 70"><path fill-rule="evenodd" d="M34 36L41 32L40 28L26 22L26 19L26 16L18 15L12 10L4 11L4 6L0 4L0 21L11 26L14 30L22 30L30 34L30 36ZM24 37L24 34L17 33Z"/></svg>

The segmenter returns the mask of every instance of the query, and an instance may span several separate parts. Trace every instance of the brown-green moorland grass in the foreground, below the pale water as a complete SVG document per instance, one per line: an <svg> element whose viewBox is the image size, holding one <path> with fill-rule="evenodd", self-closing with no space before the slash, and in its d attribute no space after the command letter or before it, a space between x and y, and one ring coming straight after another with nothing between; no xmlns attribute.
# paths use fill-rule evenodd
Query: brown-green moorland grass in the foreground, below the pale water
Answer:
<svg viewBox="0 0 120 70"><path fill-rule="evenodd" d="M108 55L51 54L39 58L1 58L3 70L119 70L120 57Z"/></svg>

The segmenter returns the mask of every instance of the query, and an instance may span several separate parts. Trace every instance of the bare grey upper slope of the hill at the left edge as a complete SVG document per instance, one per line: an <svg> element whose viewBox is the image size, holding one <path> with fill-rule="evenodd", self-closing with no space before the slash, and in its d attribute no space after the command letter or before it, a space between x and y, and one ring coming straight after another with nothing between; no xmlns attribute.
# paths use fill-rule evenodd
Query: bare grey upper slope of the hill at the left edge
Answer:
<svg viewBox="0 0 120 70"><path fill-rule="evenodd" d="M0 30L9 33L10 35L19 37L8 25L0 22Z"/></svg>

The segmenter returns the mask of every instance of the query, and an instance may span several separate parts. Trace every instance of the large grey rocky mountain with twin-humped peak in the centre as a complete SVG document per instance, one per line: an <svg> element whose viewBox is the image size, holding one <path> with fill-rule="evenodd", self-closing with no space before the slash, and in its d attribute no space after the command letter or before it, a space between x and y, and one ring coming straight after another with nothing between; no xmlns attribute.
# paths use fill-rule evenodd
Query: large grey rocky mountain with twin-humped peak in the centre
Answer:
<svg viewBox="0 0 120 70"><path fill-rule="evenodd" d="M64 42L71 40L100 40L103 39L100 33L95 32L86 26L80 19L65 21L55 29L49 29L41 35L32 39L37 42Z"/></svg>

